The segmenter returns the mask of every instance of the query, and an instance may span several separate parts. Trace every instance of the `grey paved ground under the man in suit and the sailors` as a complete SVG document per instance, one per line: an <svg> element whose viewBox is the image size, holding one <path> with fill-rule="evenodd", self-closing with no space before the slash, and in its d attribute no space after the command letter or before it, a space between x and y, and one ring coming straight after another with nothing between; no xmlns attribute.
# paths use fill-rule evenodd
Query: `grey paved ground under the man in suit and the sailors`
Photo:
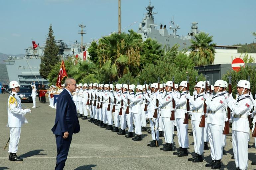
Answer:
<svg viewBox="0 0 256 170"><path fill-rule="evenodd" d="M32 113L26 115L28 124L23 125L17 155L24 158L23 162L9 161L8 147L4 150L8 138L9 128L7 124L7 99L8 94L0 94L0 170L53 170L56 164L56 142L51 129L55 121L56 110L46 104L39 103L37 108L32 108ZM48 98L47 98L48 99ZM48 100L47 100L48 101ZM32 107L32 103L24 103L26 107ZM150 148L147 143L152 140L151 135L143 132L143 139L134 142L122 135L99 128L87 120L81 120L80 132L73 135L65 170L209 170L205 164L211 161L210 150L205 150L204 161L192 163L188 161L193 153L193 138L189 136L189 156L177 157L173 151L163 152L160 147ZM149 128L149 125L147 125ZM189 132L191 132L191 123ZM175 132L177 134L177 132ZM177 136L174 138L174 148L178 146ZM160 144L164 138L160 138ZM256 169L251 165L256 161L254 139L249 142L248 169ZM225 148L227 154L223 155L222 168L235 169L231 134L227 136Z"/></svg>

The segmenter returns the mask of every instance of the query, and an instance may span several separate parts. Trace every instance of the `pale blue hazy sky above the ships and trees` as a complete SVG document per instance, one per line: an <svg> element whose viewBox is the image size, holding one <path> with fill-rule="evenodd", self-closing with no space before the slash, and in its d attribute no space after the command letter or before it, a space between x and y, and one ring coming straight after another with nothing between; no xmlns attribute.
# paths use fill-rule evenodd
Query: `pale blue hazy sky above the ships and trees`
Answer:
<svg viewBox="0 0 256 170"><path fill-rule="evenodd" d="M192 3L194 2L194 3ZM151 0L155 23L166 24L174 16L181 29L179 35L191 30L191 23L213 35L218 45L251 43L256 32L255 0ZM67 44L80 42L81 22L87 34L83 42L90 42L118 29L118 0L0 0L0 52L25 53L32 46L31 38L44 44L50 24L55 39ZM138 30L149 0L121 0L122 28ZM169 31L170 32L170 31Z"/></svg>

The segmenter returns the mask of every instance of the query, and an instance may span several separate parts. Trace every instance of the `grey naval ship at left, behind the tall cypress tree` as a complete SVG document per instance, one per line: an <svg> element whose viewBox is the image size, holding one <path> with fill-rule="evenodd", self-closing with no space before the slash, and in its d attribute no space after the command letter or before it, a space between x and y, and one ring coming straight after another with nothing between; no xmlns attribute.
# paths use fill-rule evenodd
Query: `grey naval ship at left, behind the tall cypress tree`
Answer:
<svg viewBox="0 0 256 170"><path fill-rule="evenodd" d="M57 40L56 45L59 47L59 55L62 55L63 58L81 52L81 44L77 42L67 45L63 40ZM44 48L44 45L39 46L38 44L35 49L32 46L25 49L24 57L9 56L5 60L9 81L17 80L20 85L31 85L34 81L36 84L49 84L48 80L43 79L39 74Z"/></svg>

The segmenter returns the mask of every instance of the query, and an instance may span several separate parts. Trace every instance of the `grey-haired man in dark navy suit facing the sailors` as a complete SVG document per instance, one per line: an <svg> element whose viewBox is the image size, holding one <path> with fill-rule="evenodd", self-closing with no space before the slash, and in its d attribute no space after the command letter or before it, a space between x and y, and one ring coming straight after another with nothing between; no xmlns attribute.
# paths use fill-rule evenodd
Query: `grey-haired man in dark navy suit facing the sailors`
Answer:
<svg viewBox="0 0 256 170"><path fill-rule="evenodd" d="M73 133L80 131L76 107L71 93L76 89L76 81L73 78L65 80L64 90L57 100L55 125L52 128L57 144L57 163L55 170L63 170L67 159L69 146Z"/></svg>

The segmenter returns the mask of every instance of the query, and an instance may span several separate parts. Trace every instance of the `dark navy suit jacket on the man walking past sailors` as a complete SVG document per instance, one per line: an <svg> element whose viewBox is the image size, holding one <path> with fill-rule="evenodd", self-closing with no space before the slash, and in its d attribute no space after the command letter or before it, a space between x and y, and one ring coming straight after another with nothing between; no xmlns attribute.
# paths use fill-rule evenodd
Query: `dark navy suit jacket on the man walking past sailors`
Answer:
<svg viewBox="0 0 256 170"><path fill-rule="evenodd" d="M63 136L66 131L68 133L78 133L80 131L76 107L66 89L58 97L55 125L52 131L59 136Z"/></svg>

